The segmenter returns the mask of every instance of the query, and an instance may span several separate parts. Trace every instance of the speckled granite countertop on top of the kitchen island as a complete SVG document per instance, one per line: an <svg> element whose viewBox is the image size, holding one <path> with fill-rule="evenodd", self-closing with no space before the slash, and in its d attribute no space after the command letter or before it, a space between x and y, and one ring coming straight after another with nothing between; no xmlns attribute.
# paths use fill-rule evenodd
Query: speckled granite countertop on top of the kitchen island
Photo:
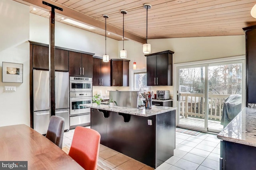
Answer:
<svg viewBox="0 0 256 170"><path fill-rule="evenodd" d="M80 104L81 106L85 107L90 107L94 109L102 109L102 110L107 110L107 111L115 111L119 113L126 113L130 115L139 115L139 116L152 116L152 115L157 115L160 113L164 113L167 111L172 111L176 110L177 108L175 107L164 107L164 106L152 106L152 109L145 109L145 108L130 108L130 107L120 107L120 106L114 106L114 107L109 107L108 105L101 104L100 106L93 105L93 104Z"/></svg>

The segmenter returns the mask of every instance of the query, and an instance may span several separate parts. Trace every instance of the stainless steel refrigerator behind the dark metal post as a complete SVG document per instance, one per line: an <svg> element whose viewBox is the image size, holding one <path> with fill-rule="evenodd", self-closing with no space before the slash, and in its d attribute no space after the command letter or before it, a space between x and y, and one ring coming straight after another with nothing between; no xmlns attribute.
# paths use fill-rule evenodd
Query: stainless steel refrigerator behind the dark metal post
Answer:
<svg viewBox="0 0 256 170"><path fill-rule="evenodd" d="M68 72L55 72L55 115L65 119L69 129L69 76ZM33 70L34 129L46 134L50 122L49 71Z"/></svg>

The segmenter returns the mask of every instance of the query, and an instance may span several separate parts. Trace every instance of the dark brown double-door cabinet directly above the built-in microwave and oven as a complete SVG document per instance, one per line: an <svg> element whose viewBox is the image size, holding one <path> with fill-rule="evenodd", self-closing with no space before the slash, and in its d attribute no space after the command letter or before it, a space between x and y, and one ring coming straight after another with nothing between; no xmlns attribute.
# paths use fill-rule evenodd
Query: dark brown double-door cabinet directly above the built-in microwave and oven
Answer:
<svg viewBox="0 0 256 170"><path fill-rule="evenodd" d="M92 55L69 51L69 75L92 77Z"/></svg>

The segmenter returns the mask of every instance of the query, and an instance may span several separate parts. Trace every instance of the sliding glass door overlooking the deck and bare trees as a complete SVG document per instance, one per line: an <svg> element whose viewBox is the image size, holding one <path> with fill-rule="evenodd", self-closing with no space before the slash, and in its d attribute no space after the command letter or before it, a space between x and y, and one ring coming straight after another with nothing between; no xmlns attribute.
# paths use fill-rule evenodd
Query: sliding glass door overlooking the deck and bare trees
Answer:
<svg viewBox="0 0 256 170"><path fill-rule="evenodd" d="M242 102L243 67L244 61L177 66L177 126L220 132L225 101L236 95Z"/></svg>

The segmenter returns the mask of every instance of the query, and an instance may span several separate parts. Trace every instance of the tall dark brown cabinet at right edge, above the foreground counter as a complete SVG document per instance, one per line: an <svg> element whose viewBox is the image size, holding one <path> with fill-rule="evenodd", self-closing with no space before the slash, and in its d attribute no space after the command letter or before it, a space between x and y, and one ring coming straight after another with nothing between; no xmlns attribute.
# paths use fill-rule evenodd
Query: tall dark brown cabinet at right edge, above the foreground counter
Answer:
<svg viewBox="0 0 256 170"><path fill-rule="evenodd" d="M256 25L243 28L246 37L246 106L256 103Z"/></svg>

